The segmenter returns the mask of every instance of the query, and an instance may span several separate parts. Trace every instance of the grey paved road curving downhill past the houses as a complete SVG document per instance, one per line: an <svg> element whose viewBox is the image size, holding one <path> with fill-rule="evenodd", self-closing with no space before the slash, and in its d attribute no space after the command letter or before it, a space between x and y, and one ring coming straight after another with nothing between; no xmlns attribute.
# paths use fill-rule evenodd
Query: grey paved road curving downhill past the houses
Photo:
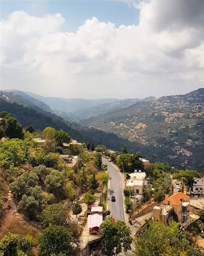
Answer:
<svg viewBox="0 0 204 256"><path fill-rule="evenodd" d="M108 165L107 172L110 176L110 212L115 220L122 220L126 222L121 174L112 162L108 162L105 158L102 158L102 160L104 164ZM116 197L116 202L111 202L112 195Z"/></svg>

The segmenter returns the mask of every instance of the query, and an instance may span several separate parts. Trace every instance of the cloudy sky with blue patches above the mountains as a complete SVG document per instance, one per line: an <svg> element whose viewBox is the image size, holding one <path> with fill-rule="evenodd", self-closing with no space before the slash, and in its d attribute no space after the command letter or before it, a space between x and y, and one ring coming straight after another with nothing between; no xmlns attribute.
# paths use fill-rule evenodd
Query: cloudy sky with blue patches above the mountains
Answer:
<svg viewBox="0 0 204 256"><path fill-rule="evenodd" d="M0 1L2 90L144 98L204 87L204 1Z"/></svg>

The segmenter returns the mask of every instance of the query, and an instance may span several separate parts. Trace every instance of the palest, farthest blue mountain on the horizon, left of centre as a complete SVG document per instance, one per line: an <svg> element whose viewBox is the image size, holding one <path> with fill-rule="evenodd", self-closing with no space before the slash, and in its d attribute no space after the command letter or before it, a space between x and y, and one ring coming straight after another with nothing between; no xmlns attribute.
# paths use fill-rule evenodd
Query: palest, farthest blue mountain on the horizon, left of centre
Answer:
<svg viewBox="0 0 204 256"><path fill-rule="evenodd" d="M63 112L73 112L83 108L90 108L97 106L99 104L114 102L119 99L95 99L95 100L86 100L86 99L67 99L67 98L56 98L56 97L43 97L31 92L26 92L29 96L45 102L51 109L57 109Z"/></svg>

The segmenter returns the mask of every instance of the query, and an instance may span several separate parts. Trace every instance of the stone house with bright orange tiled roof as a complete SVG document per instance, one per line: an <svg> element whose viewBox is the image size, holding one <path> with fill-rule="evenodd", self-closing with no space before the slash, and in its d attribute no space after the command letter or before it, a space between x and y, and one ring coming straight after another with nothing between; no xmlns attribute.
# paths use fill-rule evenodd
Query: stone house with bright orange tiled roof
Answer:
<svg viewBox="0 0 204 256"><path fill-rule="evenodd" d="M173 218L180 223L182 228L186 228L199 218L199 216L190 212L190 196L178 192L153 208L154 221L161 221L168 225Z"/></svg>

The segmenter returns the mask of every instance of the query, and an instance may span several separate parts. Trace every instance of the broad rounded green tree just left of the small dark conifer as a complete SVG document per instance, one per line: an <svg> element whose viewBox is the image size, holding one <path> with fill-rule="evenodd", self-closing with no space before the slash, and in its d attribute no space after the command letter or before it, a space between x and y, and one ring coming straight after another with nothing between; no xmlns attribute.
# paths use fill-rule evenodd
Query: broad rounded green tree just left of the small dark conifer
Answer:
<svg viewBox="0 0 204 256"><path fill-rule="evenodd" d="M68 209L62 203L47 205L42 215L47 226L60 225L61 222L65 222L67 218L70 218Z"/></svg>

